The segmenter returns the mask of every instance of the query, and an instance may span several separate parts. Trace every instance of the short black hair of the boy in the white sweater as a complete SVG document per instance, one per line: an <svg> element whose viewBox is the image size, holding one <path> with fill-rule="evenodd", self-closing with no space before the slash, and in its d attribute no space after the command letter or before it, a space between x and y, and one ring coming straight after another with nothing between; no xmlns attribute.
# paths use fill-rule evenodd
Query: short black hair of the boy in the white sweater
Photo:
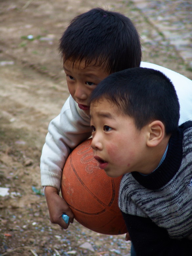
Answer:
<svg viewBox="0 0 192 256"><path fill-rule="evenodd" d="M105 65L109 74L139 67L141 44L132 21L125 15L94 8L72 19L60 39L59 51L63 63L71 59L95 61Z"/></svg>

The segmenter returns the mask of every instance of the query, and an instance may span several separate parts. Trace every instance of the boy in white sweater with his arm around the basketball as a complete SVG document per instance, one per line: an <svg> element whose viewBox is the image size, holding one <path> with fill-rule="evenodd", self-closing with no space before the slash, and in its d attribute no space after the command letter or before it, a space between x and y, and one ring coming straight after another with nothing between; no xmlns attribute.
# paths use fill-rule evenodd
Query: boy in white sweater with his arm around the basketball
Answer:
<svg viewBox="0 0 192 256"><path fill-rule="evenodd" d="M131 20L100 8L72 20L60 40L60 51L71 95L49 125L40 167L51 222L66 229L69 223L63 221L62 214L67 214L71 223L74 215L59 196L62 169L71 150L91 136L87 100L97 84L111 73L152 65L167 74L179 90L184 122L192 118L192 81L163 67L141 63L139 35Z"/></svg>

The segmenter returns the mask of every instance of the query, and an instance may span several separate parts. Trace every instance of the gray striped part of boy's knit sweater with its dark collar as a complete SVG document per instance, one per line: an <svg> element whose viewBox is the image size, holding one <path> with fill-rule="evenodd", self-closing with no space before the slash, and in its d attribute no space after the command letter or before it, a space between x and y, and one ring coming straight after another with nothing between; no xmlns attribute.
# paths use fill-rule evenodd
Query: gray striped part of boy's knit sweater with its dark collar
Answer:
<svg viewBox="0 0 192 256"><path fill-rule="evenodd" d="M155 172L123 176L119 208L126 214L149 217L170 238L192 239L191 121L171 136L166 158Z"/></svg>

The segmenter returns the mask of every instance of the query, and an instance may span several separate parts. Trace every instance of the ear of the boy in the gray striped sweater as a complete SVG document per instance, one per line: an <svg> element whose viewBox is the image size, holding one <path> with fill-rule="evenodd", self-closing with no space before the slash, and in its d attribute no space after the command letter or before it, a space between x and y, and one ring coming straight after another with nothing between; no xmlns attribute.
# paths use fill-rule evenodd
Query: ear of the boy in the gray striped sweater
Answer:
<svg viewBox="0 0 192 256"><path fill-rule="evenodd" d="M147 146L155 147L157 146L165 136L165 126L159 121L155 120L148 125L148 138Z"/></svg>

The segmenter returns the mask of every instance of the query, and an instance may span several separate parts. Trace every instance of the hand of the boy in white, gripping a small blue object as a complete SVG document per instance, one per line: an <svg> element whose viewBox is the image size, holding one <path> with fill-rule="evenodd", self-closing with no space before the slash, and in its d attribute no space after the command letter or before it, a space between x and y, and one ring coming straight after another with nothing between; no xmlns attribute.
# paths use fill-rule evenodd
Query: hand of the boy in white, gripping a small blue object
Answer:
<svg viewBox="0 0 192 256"><path fill-rule="evenodd" d="M74 221L74 214L69 208L65 200L58 195L58 191L54 187L45 187L45 197L49 210L50 221L53 224L58 224L64 229L67 229L70 223ZM69 223L66 224L62 219L62 214L69 216Z"/></svg>

